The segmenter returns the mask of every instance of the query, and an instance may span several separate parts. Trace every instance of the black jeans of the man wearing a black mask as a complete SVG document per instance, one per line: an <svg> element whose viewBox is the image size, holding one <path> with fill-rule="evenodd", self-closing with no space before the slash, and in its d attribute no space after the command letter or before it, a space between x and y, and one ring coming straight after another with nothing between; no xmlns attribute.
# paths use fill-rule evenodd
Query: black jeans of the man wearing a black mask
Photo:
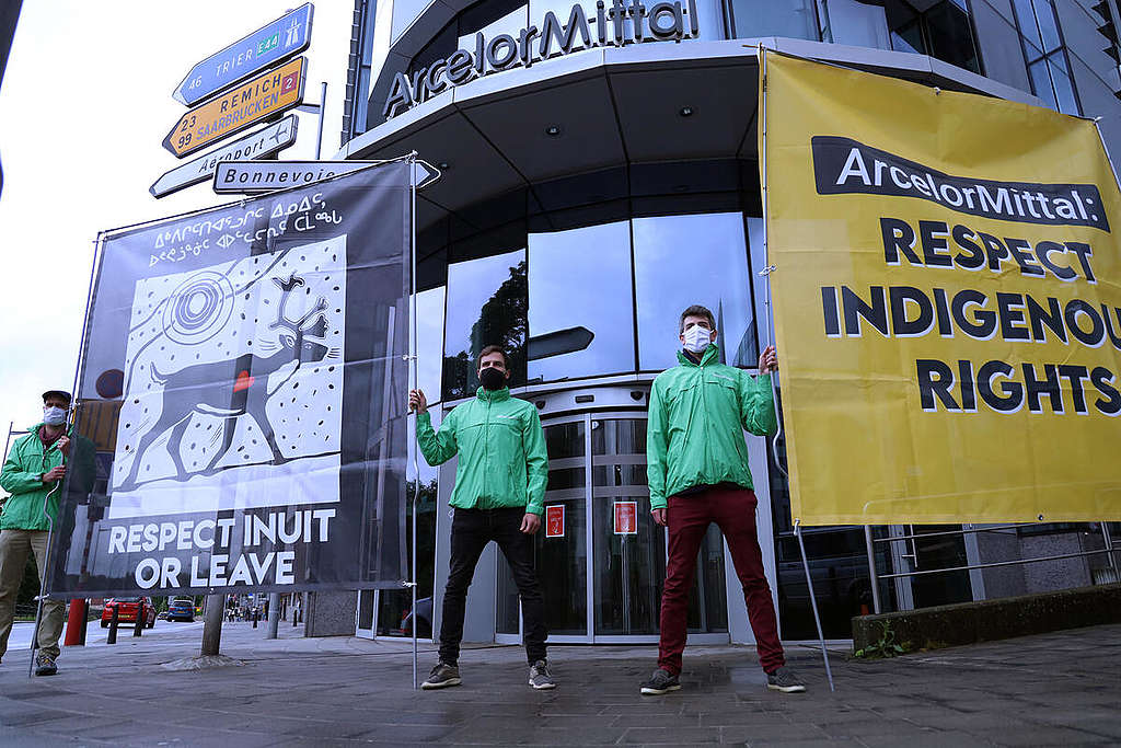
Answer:
<svg viewBox="0 0 1121 748"><path fill-rule="evenodd" d="M439 662L455 665L463 640L463 611L467 588L483 548L491 541L510 564L521 595L521 619L526 657L532 665L545 659L545 600L534 571L534 536L518 528L526 515L524 507L508 509L456 509L452 520L452 561L444 589L444 615L439 626Z"/></svg>

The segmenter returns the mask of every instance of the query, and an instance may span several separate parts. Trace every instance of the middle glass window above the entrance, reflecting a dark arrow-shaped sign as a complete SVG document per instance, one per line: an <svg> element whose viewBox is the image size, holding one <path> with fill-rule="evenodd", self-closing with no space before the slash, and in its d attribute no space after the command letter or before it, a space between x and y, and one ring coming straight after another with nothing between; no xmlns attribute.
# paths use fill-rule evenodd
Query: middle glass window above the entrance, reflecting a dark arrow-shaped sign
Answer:
<svg viewBox="0 0 1121 748"><path fill-rule="evenodd" d="M634 370L630 224L529 234L529 379Z"/></svg>

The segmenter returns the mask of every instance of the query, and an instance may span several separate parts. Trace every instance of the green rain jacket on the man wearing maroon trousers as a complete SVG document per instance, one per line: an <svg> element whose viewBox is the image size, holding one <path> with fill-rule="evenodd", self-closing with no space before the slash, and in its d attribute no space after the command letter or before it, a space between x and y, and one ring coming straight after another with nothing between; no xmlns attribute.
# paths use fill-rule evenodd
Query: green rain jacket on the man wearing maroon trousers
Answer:
<svg viewBox="0 0 1121 748"><path fill-rule="evenodd" d="M743 431L763 436L778 426L770 375L752 377L719 355L710 344L697 366L678 352L680 366L654 380L646 433L651 509L696 486L753 487Z"/></svg>

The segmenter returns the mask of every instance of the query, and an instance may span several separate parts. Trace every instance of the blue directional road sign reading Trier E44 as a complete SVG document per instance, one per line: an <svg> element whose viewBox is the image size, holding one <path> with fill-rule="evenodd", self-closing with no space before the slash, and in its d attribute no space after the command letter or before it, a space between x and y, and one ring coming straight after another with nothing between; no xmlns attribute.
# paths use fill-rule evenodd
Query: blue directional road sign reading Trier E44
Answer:
<svg viewBox="0 0 1121 748"><path fill-rule="evenodd" d="M312 3L285 13L191 68L172 96L187 107L298 54L312 41Z"/></svg>

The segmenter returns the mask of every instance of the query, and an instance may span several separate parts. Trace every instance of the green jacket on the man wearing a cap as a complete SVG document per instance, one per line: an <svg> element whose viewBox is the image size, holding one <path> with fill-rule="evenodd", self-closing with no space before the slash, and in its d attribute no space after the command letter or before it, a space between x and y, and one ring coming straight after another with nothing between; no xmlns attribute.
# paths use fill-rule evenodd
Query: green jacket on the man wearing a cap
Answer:
<svg viewBox="0 0 1121 748"><path fill-rule="evenodd" d="M44 452L43 442L39 440L39 430L43 425L33 426L31 433L16 440L11 451L8 452L8 459L4 460L3 471L0 472L0 486L11 496L4 501L3 511L0 514L0 529L46 530L50 527L43 514L43 500L55 488L57 481L44 483L39 478L62 464L63 453L58 451L58 442ZM72 480L89 483L94 474L93 443L76 435L73 430L66 435L71 438L67 475ZM58 519L58 500L62 493L62 488L52 493L47 506L50 519L55 521Z"/></svg>

